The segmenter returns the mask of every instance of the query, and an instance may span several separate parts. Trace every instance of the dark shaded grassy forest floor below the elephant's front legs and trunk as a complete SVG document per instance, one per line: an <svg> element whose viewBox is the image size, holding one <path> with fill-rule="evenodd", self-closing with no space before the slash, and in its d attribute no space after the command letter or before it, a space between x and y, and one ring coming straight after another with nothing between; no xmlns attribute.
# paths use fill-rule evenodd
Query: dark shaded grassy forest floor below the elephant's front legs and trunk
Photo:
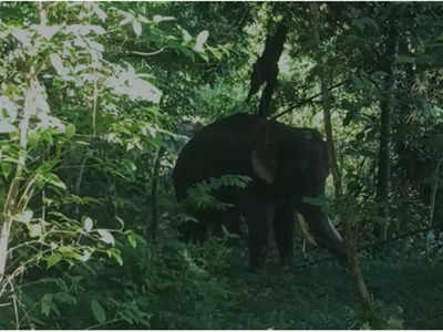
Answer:
<svg viewBox="0 0 443 332"><path fill-rule="evenodd" d="M238 253L238 252L237 252ZM258 273L233 257L224 278L233 286L228 312L219 329L346 330L360 329L350 278L334 262L300 271L282 270L271 259ZM443 329L443 264L424 261L363 260L365 281L379 313L391 329ZM367 328L373 328L365 325Z"/></svg>

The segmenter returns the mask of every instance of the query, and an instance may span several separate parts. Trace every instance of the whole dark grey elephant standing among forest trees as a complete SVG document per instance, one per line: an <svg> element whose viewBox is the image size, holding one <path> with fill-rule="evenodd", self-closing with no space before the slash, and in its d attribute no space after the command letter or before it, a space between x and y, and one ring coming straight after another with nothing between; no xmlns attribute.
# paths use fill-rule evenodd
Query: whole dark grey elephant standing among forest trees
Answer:
<svg viewBox="0 0 443 332"><path fill-rule="evenodd" d="M182 228L187 239L203 239L210 224L226 222L238 232L239 217L248 225L249 267L264 264L272 225L284 264L293 258L295 212L309 225L316 242L346 261L343 240L318 205L303 198L324 194L328 152L320 133L292 128L260 116L236 114L200 129L183 148L173 179L178 200L202 180L224 175L247 175L247 188L223 187L213 195L230 203L227 210L194 210L202 222Z"/></svg>

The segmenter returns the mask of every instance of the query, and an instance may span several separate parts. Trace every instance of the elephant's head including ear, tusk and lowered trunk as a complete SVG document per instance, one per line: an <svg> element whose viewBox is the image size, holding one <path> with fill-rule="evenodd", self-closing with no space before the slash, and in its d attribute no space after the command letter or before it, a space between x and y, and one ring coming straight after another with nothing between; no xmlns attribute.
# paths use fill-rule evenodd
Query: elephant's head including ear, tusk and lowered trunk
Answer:
<svg viewBox="0 0 443 332"><path fill-rule="evenodd" d="M250 159L257 177L272 187L280 199L292 200L308 222L316 242L344 262L342 237L319 205L306 201L306 198L324 195L329 162L321 134L262 120L257 125L256 138Z"/></svg>

